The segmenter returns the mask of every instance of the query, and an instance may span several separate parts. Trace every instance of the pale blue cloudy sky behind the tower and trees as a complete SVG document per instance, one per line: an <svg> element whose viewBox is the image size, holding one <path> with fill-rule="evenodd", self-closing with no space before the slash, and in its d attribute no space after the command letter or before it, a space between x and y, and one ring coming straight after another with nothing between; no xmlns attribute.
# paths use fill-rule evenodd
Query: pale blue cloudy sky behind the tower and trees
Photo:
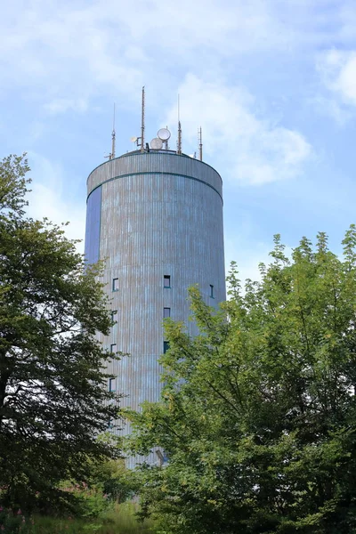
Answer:
<svg viewBox="0 0 356 534"><path fill-rule="evenodd" d="M30 213L83 239L85 181L166 126L222 175L226 262L257 275L287 247L356 222L354 0L12 0L0 20L2 156L28 152Z"/></svg>

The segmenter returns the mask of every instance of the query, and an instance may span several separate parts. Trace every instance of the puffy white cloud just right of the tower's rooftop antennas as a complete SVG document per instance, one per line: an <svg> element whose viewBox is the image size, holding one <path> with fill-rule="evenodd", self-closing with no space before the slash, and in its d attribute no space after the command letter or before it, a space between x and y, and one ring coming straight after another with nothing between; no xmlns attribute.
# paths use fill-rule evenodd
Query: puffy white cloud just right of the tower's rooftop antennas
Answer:
<svg viewBox="0 0 356 534"><path fill-rule="evenodd" d="M194 150L198 118L207 140L205 154L217 166L230 168L231 180L260 185L293 178L311 156L302 134L257 116L254 98L244 88L189 74L179 93L185 144L188 138ZM174 124L175 116L172 108L162 124Z"/></svg>

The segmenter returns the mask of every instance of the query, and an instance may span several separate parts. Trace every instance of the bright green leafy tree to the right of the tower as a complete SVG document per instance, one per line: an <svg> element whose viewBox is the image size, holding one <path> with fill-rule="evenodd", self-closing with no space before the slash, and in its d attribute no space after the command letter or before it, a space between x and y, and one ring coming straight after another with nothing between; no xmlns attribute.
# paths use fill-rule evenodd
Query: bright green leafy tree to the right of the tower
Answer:
<svg viewBox="0 0 356 534"><path fill-rule="evenodd" d="M166 533L356 532L356 230L344 257L279 236L261 281L214 313L190 289L200 336L166 321L162 399L128 413L142 516Z"/></svg>

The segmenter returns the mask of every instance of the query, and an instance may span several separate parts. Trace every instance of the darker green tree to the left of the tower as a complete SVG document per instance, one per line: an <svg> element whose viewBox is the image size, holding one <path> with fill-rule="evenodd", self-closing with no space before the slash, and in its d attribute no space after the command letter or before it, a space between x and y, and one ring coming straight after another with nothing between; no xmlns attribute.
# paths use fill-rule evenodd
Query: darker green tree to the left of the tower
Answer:
<svg viewBox="0 0 356 534"><path fill-rule="evenodd" d="M85 481L115 454L105 352L109 303L76 242L25 214L27 161L0 163L0 504L54 506L61 479Z"/></svg>

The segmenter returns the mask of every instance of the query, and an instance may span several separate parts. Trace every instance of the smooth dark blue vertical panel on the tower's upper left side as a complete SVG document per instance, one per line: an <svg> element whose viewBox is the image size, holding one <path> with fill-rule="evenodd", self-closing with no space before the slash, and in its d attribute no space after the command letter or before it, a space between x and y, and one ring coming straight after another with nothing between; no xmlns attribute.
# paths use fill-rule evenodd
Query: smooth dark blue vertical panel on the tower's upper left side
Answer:
<svg viewBox="0 0 356 534"><path fill-rule="evenodd" d="M96 263L100 255L101 187L93 191L86 205L85 258Z"/></svg>

